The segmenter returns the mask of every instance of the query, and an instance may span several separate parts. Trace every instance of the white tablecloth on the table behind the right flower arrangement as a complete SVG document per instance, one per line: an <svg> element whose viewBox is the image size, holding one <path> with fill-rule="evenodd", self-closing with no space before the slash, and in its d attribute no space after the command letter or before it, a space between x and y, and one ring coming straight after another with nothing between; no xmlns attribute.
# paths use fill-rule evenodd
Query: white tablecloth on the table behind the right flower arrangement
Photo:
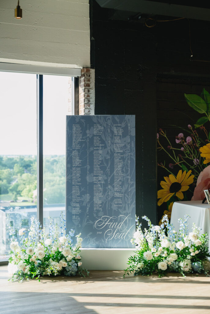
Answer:
<svg viewBox="0 0 210 314"><path fill-rule="evenodd" d="M184 216L188 214L188 232L192 232L193 222L201 227L201 234L207 232L210 236L210 204L202 204L202 201L185 201L174 202L171 213L171 224L174 225L176 231L179 231L178 219L184 219ZM210 249L210 243L209 243Z"/></svg>

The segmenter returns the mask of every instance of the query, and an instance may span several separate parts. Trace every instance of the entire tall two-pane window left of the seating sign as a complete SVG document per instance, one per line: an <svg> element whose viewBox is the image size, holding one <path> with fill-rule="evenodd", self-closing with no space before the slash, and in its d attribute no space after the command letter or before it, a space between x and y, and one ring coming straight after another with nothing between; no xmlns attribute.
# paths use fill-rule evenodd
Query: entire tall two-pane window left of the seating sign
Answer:
<svg viewBox="0 0 210 314"><path fill-rule="evenodd" d="M36 74L0 72L0 262L8 259L7 225L16 229L18 238L18 230L28 228L32 216L41 214L42 225L48 228L48 217L60 224L59 214L65 211L68 80L67 76L43 75L43 94L39 94ZM40 104L41 142L37 138ZM43 151L43 172L37 141Z"/></svg>

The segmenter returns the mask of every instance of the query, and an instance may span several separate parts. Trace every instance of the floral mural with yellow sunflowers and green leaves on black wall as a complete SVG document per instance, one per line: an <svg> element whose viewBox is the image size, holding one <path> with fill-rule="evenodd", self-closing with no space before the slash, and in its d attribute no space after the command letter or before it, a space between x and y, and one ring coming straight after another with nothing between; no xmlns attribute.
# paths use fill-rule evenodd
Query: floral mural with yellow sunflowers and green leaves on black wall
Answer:
<svg viewBox="0 0 210 314"><path fill-rule="evenodd" d="M202 117L192 118L193 126L192 122L186 128L177 126L174 136L167 136L161 128L157 133L159 177L161 174L164 179L159 181L157 194L159 217L167 214L169 219L174 202L201 200L205 197L203 190L210 189L210 94L203 89L201 96L183 97L196 116ZM160 162L160 158L165 160Z"/></svg>

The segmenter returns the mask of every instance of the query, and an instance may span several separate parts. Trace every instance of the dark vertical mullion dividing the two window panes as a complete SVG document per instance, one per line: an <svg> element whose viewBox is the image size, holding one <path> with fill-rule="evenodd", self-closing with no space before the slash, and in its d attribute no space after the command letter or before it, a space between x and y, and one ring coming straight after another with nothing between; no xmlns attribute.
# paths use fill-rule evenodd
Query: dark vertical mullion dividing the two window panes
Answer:
<svg viewBox="0 0 210 314"><path fill-rule="evenodd" d="M37 218L43 227L43 75L37 74Z"/></svg>

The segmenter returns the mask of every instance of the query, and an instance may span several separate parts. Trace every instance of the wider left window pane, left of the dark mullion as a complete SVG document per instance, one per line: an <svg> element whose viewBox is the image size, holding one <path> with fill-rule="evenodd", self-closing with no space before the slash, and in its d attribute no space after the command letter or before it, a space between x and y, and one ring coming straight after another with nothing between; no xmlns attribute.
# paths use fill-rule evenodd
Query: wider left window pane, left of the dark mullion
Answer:
<svg viewBox="0 0 210 314"><path fill-rule="evenodd" d="M27 228L37 215L36 75L0 72L0 86L0 260L5 260L7 225Z"/></svg>

